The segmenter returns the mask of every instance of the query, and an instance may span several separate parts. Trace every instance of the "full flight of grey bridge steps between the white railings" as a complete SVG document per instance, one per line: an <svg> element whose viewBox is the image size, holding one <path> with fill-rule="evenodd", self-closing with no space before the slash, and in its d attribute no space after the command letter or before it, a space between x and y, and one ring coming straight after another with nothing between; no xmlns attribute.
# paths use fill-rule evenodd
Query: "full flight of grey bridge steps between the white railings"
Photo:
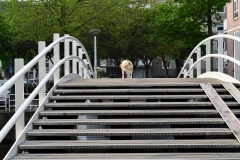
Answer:
<svg viewBox="0 0 240 160"><path fill-rule="evenodd" d="M75 78L57 85L12 159L239 159L236 87Z"/></svg>

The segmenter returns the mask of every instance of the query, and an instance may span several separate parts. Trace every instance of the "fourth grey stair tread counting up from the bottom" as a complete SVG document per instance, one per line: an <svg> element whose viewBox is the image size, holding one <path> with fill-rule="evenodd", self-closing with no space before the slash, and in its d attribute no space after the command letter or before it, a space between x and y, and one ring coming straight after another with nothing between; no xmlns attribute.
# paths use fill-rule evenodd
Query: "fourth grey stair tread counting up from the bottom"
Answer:
<svg viewBox="0 0 240 160"><path fill-rule="evenodd" d="M35 125L56 124L223 124L222 118L39 119Z"/></svg>

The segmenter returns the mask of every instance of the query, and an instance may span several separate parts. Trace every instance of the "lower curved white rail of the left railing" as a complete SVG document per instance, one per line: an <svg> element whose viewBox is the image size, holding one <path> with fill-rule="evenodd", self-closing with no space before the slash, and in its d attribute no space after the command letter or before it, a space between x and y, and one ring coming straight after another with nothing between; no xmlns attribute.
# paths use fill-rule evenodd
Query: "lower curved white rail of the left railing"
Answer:
<svg viewBox="0 0 240 160"><path fill-rule="evenodd" d="M69 56L65 57L62 60L60 60L54 67L50 70L50 72L43 78L43 80L38 84L38 86L33 90L33 92L29 95L29 97L24 101L24 103L19 107L19 109L14 113L14 115L11 117L11 119L6 123L6 125L2 128L0 131L0 143L4 139L4 137L8 134L8 132L11 130L11 128L14 126L18 118L22 115L22 113L26 110L28 105L32 102L32 100L36 97L38 92L42 89L42 87L45 85L45 83L48 81L48 79L54 74L54 72L58 69L60 65L62 65L65 61L69 59L76 58L79 61L83 63L83 66L85 69L87 69L88 77L91 78L91 74L88 70L88 67L83 62L83 60L78 56Z"/></svg>

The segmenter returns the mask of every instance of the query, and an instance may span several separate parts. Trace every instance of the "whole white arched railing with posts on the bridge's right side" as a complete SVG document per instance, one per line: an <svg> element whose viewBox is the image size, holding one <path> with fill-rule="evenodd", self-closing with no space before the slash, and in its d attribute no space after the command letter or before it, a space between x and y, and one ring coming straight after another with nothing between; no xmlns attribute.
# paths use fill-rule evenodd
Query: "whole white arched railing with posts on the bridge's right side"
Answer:
<svg viewBox="0 0 240 160"><path fill-rule="evenodd" d="M190 55L186 59L185 64L183 65L181 71L179 72L179 75L177 76L177 78L179 78L181 74L184 74L184 77L187 77L188 74L190 72L192 72L192 69L186 72L186 69L187 69L186 66L187 66L187 64L189 64L189 61L190 61L190 59L191 59L191 57L194 53L197 53L197 59L201 59L201 48L200 48L201 45L206 45L206 57L203 58L203 59L206 59L206 72L209 72L211 70L211 68L210 68L211 67L211 61L209 59L210 57L215 57L215 58L219 59L218 60L218 72L223 72L223 57L228 59L226 56L222 56L223 55L223 49L222 49L221 46L223 44L223 38L228 38L228 39L234 40L235 42L238 42L234 45L235 48L237 48L240 45L239 44L240 43L240 38L239 37L232 36L232 35L227 35L227 34L214 35L214 36L211 36L211 37L208 37L208 38L204 39L192 50L192 52L190 53ZM218 48L219 48L218 49L218 54L215 54L214 56L209 56L209 55L211 55L210 40L213 40L213 39L218 39L218 41L219 41L218 42L218 45L219 45L218 46ZM235 49L234 52L235 52L235 55L238 55L237 52L239 52L239 50ZM219 55L221 55L221 56L219 56ZM201 60L203 60L203 59L201 59ZM234 61L231 57L230 57L230 59L234 63L236 62L235 60L237 60L237 61L240 60L237 57L233 58L233 59L235 59ZM235 63L235 64L237 65L237 63ZM193 67L195 67L196 65L197 65L197 76L199 76L201 74L201 63L197 62L197 63L194 64ZM238 72L239 72L238 70L234 69L234 78L236 78L236 75L240 75L240 73L238 73ZM236 78L236 79L238 79L238 78ZM240 80L240 79L238 79L238 80Z"/></svg>

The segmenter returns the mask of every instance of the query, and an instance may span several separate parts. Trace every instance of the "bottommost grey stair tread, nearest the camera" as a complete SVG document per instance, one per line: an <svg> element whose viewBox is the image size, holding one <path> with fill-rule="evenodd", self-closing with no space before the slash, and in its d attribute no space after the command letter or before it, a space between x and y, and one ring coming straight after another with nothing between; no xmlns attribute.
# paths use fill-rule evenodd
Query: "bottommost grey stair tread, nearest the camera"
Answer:
<svg viewBox="0 0 240 160"><path fill-rule="evenodd" d="M18 154L12 160L65 160L65 159L197 159L197 158L239 158L240 153L66 153L66 154Z"/></svg>

